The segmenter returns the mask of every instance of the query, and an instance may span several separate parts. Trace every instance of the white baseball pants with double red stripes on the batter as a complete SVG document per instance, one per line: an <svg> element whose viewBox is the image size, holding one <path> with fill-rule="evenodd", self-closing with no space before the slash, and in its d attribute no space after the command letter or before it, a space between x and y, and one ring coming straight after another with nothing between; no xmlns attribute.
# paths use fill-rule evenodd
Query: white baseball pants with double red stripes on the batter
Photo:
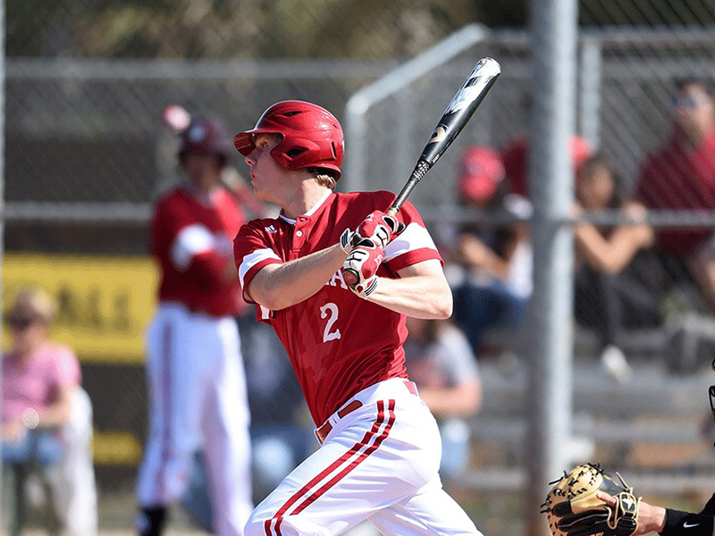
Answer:
<svg viewBox="0 0 715 536"><path fill-rule="evenodd" d="M481 536L442 489L442 444L425 403L400 379L350 398L324 444L256 507L246 536L328 536L369 519L385 535ZM344 414L343 414L344 415Z"/></svg>

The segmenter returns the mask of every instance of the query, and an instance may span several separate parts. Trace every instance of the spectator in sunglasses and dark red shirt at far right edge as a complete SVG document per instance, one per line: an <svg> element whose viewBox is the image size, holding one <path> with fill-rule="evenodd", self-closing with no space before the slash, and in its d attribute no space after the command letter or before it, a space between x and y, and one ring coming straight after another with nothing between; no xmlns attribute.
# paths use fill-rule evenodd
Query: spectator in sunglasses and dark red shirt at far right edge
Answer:
<svg viewBox="0 0 715 536"><path fill-rule="evenodd" d="M700 80L677 80L669 140L645 159L635 200L647 208L715 209L715 107ZM677 276L692 278L715 312L715 240L711 228L660 229L658 245Z"/></svg>

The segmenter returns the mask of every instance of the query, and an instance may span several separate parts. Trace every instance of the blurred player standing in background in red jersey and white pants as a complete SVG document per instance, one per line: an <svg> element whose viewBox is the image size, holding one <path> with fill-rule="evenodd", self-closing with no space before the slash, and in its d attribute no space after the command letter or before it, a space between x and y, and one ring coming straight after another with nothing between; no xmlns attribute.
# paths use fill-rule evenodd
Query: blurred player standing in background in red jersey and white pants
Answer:
<svg viewBox="0 0 715 536"><path fill-rule="evenodd" d="M234 315L242 302L231 238L245 221L219 186L228 161L219 121L181 134L186 178L160 198L150 248L161 271L159 306L147 331L150 430L139 469L139 534L162 532L166 507L189 482L203 440L214 532L243 533L252 509L248 401Z"/></svg>

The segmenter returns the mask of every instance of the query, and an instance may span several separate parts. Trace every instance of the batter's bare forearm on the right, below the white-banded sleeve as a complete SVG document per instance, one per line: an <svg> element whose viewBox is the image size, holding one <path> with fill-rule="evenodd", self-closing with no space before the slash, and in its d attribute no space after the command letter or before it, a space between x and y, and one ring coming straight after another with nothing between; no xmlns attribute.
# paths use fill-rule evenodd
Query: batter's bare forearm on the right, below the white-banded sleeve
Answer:
<svg viewBox="0 0 715 536"><path fill-rule="evenodd" d="M403 279L379 278L367 298L377 305L414 318L443 319L452 314L452 293L447 281L433 275Z"/></svg>

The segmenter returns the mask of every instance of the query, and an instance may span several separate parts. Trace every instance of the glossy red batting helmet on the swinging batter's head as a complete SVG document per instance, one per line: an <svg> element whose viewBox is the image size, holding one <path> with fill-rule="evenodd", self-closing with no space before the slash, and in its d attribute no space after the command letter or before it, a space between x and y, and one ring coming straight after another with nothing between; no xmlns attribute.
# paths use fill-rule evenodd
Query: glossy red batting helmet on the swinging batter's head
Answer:
<svg viewBox="0 0 715 536"><path fill-rule="evenodd" d="M343 138L341 123L332 113L303 101L282 101L268 108L253 130L239 132L233 145L248 156L256 148L256 134L280 134L281 142L273 147L273 160L290 170L307 167L332 171L341 177Z"/></svg>

